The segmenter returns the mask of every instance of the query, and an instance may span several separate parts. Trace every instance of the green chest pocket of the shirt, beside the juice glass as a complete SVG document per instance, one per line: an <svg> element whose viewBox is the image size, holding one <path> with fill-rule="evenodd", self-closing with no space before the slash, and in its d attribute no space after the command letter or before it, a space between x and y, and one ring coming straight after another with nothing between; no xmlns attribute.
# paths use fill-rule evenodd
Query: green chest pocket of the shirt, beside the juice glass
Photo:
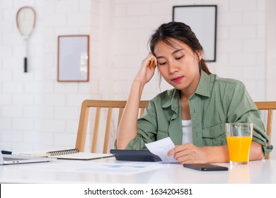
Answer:
<svg viewBox="0 0 276 198"><path fill-rule="evenodd" d="M226 145L225 122L212 124L202 129L203 146Z"/></svg>

